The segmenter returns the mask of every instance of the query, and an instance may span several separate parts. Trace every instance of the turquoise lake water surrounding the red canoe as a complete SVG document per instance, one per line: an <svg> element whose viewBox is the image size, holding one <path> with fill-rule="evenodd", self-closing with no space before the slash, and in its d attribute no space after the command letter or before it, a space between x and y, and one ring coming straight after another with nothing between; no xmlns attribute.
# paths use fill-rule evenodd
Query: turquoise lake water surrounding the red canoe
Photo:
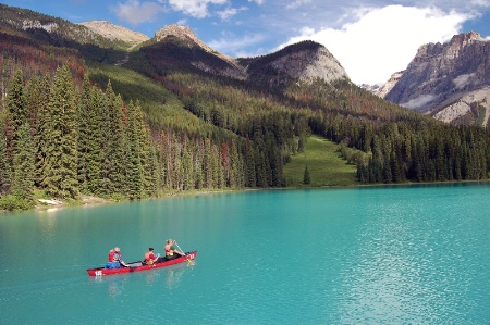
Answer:
<svg viewBox="0 0 490 325"><path fill-rule="evenodd" d="M167 238L193 263L103 277ZM0 324L490 324L490 184L0 214Z"/></svg>

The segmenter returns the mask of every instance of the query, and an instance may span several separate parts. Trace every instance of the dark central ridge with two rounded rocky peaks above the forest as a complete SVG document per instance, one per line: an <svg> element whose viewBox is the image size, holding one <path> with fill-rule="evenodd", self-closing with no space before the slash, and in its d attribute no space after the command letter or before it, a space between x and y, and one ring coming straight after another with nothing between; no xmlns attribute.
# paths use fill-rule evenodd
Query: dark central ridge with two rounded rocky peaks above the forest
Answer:
<svg viewBox="0 0 490 325"><path fill-rule="evenodd" d="M268 87L311 83L316 78L348 79L339 61L314 41L292 45L268 55L233 59L211 49L188 27L169 25L155 33L151 45L140 50L160 73L179 65Z"/></svg>

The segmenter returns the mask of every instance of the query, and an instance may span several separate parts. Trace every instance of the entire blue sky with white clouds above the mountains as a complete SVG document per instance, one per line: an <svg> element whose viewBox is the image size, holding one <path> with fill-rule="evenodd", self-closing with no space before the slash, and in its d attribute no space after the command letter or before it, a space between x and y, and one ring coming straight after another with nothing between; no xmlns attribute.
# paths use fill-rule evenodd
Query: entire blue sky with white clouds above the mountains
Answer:
<svg viewBox="0 0 490 325"><path fill-rule="evenodd" d="M72 23L109 21L154 37L189 27L215 50L257 57L301 40L323 45L350 78L385 83L428 42L477 32L490 40L490 0L0 0Z"/></svg>

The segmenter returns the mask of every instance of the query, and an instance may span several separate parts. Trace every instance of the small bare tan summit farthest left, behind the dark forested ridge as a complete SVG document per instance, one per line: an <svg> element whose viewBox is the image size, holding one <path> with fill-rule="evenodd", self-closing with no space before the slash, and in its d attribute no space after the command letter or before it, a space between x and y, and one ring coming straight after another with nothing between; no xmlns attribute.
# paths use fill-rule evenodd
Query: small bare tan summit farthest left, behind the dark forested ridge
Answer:
<svg viewBox="0 0 490 325"><path fill-rule="evenodd" d="M124 42L127 42L130 45L139 45L144 41L147 41L149 39L148 36L146 36L143 33L136 33L133 30L130 30L122 26L117 26L110 22L106 21L90 21L85 23L79 23L79 25L83 25L93 32L114 40L122 40Z"/></svg>

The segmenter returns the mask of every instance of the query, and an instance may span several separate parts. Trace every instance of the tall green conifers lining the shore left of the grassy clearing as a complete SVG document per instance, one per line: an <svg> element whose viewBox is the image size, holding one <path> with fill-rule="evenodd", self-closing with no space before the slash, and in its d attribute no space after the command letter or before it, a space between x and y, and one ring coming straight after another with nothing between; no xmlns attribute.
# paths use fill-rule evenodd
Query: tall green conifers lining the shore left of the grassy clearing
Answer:
<svg viewBox="0 0 490 325"><path fill-rule="evenodd" d="M81 192L139 199L164 189L283 185L285 140L274 114L257 120L252 141L233 133L150 129L137 100L125 103L110 82L103 90L88 77L77 85L68 65L28 80L16 70L8 84L0 120L4 200L32 207L35 188L61 199Z"/></svg>

